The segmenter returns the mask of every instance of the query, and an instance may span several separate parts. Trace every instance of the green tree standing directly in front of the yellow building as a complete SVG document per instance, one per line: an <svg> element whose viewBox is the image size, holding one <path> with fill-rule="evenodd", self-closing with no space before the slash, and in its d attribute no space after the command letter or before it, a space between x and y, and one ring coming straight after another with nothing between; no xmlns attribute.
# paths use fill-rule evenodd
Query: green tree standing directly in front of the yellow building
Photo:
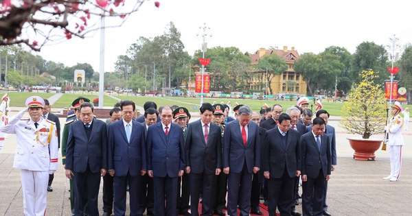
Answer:
<svg viewBox="0 0 412 216"><path fill-rule="evenodd" d="M257 69L261 71L266 71L268 70L268 76L266 77L268 81L268 87L270 94L273 95L273 90L272 90L272 79L275 77L275 75L280 75L286 69L288 69L288 65L286 64L285 60L277 56L275 53L269 56L264 56L261 60L259 60L258 65L256 66Z"/></svg>

